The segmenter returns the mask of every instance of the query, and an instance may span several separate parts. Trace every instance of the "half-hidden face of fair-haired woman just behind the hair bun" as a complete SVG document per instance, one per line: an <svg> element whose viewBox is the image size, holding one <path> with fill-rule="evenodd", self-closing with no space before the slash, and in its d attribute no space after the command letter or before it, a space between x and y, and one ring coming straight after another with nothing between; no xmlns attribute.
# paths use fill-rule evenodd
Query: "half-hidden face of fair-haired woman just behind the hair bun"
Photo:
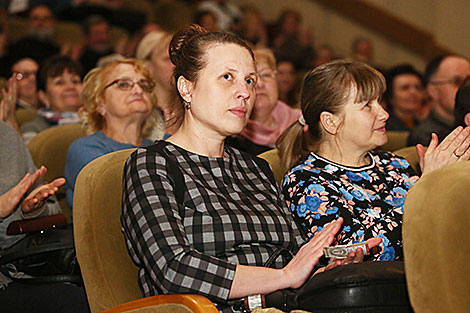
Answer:
<svg viewBox="0 0 470 313"><path fill-rule="evenodd" d="M168 43L164 48L155 49L150 58L152 62L151 72L155 83L162 86L166 90L172 89L171 80L173 79L173 70L175 66L170 61L168 54Z"/></svg>

